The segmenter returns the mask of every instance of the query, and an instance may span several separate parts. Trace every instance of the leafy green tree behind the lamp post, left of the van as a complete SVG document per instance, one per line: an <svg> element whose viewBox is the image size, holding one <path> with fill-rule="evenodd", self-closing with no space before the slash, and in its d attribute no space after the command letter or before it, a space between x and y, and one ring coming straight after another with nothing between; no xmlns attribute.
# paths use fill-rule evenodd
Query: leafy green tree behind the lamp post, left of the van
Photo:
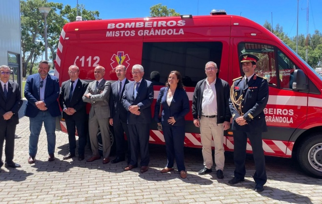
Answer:
<svg viewBox="0 0 322 204"><path fill-rule="evenodd" d="M25 77L27 69L32 72L33 62L44 51L44 20L39 7L50 7L47 16L47 46L50 49L50 59L56 59L56 51L63 26L76 20L77 8L62 3L48 2L47 0L20 0L21 12L21 50L22 50L22 76ZM98 11L88 11L84 5L79 6L83 20L99 19ZM42 43L39 43L42 42ZM31 62L31 63L29 63Z"/></svg>

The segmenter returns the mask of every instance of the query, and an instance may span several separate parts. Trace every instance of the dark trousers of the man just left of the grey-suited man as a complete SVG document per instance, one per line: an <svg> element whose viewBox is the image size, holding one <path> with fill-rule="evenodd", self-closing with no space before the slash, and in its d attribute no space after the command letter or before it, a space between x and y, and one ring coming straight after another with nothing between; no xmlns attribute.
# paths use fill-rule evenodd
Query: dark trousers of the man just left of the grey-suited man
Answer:
<svg viewBox="0 0 322 204"><path fill-rule="evenodd" d="M68 133L68 141L69 141L69 152L71 154L75 154L76 149L76 137L75 132L77 128L77 134L78 134L78 154L84 154L85 151L85 145L86 145L86 121L84 119L66 119L66 127L67 127L67 133Z"/></svg>

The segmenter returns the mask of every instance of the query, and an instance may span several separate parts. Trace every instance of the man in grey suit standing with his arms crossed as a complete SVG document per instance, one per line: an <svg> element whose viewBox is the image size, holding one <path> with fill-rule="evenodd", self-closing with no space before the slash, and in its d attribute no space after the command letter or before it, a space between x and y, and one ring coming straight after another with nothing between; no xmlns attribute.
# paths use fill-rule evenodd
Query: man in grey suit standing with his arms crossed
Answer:
<svg viewBox="0 0 322 204"><path fill-rule="evenodd" d="M103 143L103 164L107 164L111 151L111 139L109 130L109 96L111 91L111 83L103 79L105 68L98 66L94 69L95 81L89 83L82 97L84 102L91 103L89 112L89 138L91 141L92 157L87 159L87 162L92 162L101 158L99 153L99 142L97 133L100 128L102 143Z"/></svg>

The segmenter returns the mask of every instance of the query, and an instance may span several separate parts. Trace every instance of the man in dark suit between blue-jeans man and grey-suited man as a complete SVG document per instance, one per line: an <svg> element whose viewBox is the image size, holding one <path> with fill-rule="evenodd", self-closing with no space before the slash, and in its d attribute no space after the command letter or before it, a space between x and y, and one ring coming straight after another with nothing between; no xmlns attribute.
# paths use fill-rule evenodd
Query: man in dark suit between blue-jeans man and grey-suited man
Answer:
<svg viewBox="0 0 322 204"><path fill-rule="evenodd" d="M75 156L76 138L75 132L77 128L78 134L78 160L84 159L84 151L86 145L86 102L83 102L84 95L88 83L79 79L80 69L76 65L68 68L70 80L61 84L61 92L59 96L60 108L62 109L62 117L65 119L69 153L62 159L70 159Z"/></svg>

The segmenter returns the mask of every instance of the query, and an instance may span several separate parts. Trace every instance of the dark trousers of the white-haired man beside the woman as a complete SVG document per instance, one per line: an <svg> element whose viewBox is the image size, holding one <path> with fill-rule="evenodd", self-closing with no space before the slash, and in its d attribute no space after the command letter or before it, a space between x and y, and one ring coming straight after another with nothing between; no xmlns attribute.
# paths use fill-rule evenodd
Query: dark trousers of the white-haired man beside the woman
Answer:
<svg viewBox="0 0 322 204"><path fill-rule="evenodd" d="M131 161L129 164L136 166L138 164L139 150L141 153L141 166L148 166L150 162L149 155L149 137L150 124L136 123L128 124L130 147L131 147Z"/></svg>

